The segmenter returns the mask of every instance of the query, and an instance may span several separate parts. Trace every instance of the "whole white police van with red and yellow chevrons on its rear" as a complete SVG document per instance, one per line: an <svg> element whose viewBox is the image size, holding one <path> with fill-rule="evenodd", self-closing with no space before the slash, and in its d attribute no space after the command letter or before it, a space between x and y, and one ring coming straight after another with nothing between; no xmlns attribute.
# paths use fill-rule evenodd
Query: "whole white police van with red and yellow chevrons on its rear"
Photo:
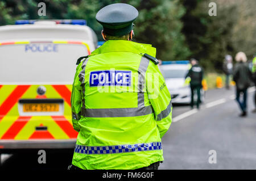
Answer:
<svg viewBox="0 0 256 181"><path fill-rule="evenodd" d="M0 153L74 148L77 58L97 48L85 20L18 20L0 27Z"/></svg>

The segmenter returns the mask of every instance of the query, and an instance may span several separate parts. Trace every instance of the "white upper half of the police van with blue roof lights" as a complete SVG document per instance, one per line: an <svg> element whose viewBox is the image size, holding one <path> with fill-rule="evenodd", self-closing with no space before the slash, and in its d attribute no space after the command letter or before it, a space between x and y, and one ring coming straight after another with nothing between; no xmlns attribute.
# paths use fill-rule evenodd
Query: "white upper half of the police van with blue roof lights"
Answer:
<svg viewBox="0 0 256 181"><path fill-rule="evenodd" d="M0 77L5 78L0 84L72 83L77 58L97 48L96 33L85 23L85 20L18 20L16 25L1 26L0 54L5 61L1 61ZM36 70L40 77L32 72L36 66L40 66ZM19 68L24 71L16 71Z"/></svg>

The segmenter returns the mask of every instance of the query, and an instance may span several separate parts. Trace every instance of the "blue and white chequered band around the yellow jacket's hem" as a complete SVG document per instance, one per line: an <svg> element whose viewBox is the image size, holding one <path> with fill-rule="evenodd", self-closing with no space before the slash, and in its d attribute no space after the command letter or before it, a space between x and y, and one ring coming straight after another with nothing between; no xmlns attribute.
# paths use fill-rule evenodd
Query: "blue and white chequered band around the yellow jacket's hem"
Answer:
<svg viewBox="0 0 256 181"><path fill-rule="evenodd" d="M113 153L129 153L135 151L153 151L162 150L161 142L150 142L146 144L134 145L113 145L113 146L83 146L76 145L75 152L82 154L113 154Z"/></svg>

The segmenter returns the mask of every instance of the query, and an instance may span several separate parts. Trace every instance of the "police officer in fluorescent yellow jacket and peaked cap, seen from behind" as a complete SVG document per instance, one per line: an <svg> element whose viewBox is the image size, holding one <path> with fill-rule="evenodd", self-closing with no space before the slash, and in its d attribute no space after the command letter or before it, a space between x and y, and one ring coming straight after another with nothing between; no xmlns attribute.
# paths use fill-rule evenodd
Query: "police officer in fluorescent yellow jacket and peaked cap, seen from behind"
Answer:
<svg viewBox="0 0 256 181"><path fill-rule="evenodd" d="M79 134L71 170L158 169L163 161L171 95L156 49L131 41L137 16L137 9L124 3L96 15L106 42L77 62L71 106Z"/></svg>

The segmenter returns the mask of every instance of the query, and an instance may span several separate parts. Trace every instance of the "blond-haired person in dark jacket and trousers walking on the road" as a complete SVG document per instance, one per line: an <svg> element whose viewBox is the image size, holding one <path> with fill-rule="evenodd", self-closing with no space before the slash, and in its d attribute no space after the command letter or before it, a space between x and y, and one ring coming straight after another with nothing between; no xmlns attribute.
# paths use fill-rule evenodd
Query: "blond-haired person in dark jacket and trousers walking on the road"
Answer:
<svg viewBox="0 0 256 181"><path fill-rule="evenodd" d="M236 54L237 64L234 67L233 80L236 82L236 100L242 110L240 114L241 117L247 115L246 112L246 99L247 99L247 89L250 86L251 72L246 64L247 57L245 53L238 52ZM243 100L240 100L240 95L243 94Z"/></svg>

